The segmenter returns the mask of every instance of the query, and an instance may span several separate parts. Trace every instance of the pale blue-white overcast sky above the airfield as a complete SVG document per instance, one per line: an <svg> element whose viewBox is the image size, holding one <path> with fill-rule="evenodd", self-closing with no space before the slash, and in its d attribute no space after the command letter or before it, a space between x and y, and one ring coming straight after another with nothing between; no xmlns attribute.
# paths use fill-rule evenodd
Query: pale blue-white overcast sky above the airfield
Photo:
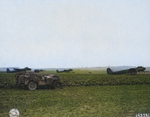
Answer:
<svg viewBox="0 0 150 117"><path fill-rule="evenodd" d="M150 66L150 0L0 0L0 67Z"/></svg>

